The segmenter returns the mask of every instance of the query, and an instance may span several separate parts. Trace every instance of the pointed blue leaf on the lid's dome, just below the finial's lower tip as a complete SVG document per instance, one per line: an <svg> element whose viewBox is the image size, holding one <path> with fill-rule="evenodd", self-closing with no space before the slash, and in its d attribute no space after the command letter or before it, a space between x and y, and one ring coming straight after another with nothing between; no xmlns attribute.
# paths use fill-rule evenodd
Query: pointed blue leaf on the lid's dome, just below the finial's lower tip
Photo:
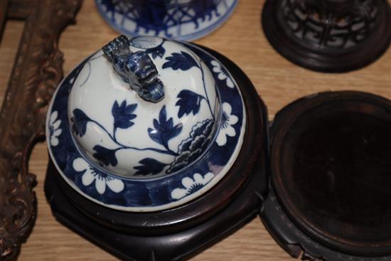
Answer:
<svg viewBox="0 0 391 261"><path fill-rule="evenodd" d="M182 124L180 123L174 126L173 118L167 120L166 105L164 105L159 113L159 121L154 119L154 128L148 129L149 137L169 150L168 141L181 133Z"/></svg>

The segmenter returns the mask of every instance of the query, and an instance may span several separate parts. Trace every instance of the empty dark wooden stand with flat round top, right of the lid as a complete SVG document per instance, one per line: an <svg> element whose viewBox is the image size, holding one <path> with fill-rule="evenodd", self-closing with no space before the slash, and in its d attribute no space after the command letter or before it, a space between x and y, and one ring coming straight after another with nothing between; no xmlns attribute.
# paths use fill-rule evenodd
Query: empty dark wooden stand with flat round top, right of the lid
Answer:
<svg viewBox="0 0 391 261"><path fill-rule="evenodd" d="M270 129L272 190L261 216L294 257L391 260L391 101L323 92L284 107Z"/></svg>

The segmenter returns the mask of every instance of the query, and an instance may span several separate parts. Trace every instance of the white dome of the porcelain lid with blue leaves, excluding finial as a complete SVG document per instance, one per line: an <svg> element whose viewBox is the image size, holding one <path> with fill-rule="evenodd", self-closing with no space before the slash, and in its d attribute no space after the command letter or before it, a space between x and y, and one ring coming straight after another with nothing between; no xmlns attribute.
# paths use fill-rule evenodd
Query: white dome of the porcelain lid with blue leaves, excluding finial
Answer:
<svg viewBox="0 0 391 261"><path fill-rule="evenodd" d="M124 82L119 77L112 63L100 50L85 63L79 75L75 78L69 94L68 118L70 124L72 125L75 122L75 112L77 110L82 112L82 116L79 115L79 117L87 116L89 118L85 125L85 133L80 135L73 132L73 137L75 142L79 144L80 152L87 156L90 164L109 171L109 173L119 176L132 176L133 178L146 178L152 174L154 177L171 174L196 160L189 159L181 162L180 166L175 166L178 158L183 157L183 154L181 154L181 144L183 142L188 139L195 139L192 144L195 148L185 152L193 153L192 151L196 151L195 155L199 157L203 152L200 150L205 150L206 146L205 144L200 146L201 144L197 143L198 140L202 139L200 142L208 143L210 139L213 139L216 125L220 119L220 105L215 80L203 61L180 43L164 41L158 37L139 37L131 41L130 49L132 52L152 50L151 52L147 51L147 53L156 65L159 79L164 84L164 99L154 103L147 102L139 97L129 87L129 83ZM161 50L164 50L163 55ZM188 55L190 55L195 63L190 61L191 68L188 68L189 66L182 68L187 70L177 68L175 60L170 60L170 57L172 58L175 54L182 55L176 55L180 62L181 58L188 58ZM183 56L183 54L187 55ZM167 63L172 66L167 66ZM164 68L165 64L166 68ZM180 94L186 93L199 96L192 94L193 96L186 97L187 100L183 99L183 102L189 99L194 102L194 98L196 98L199 107L195 106L191 110L191 107L184 105L186 113L181 113L181 106L178 101L182 97ZM113 110L124 115L124 120L122 122L119 120L119 123L125 124L124 126L114 127L115 112ZM191 111L189 112L189 110ZM165 119L162 118L164 111L166 112ZM118 117L120 118L121 115ZM156 122L161 124L161 127L163 125L162 120L163 122L166 121L164 123L166 125L172 124L172 128L168 126L168 130L171 129L171 134L168 133L169 139L159 143L152 137L156 129L159 128L159 126L156 126ZM192 135L192 130L193 132L196 131L200 125L205 124L205 121L208 121L208 128L205 127L206 125L202 126L205 127L205 133L203 135ZM162 135L164 136L164 134ZM221 139L223 138L219 140ZM106 151L100 151L97 146L109 149L111 157L109 156L103 161L99 160L100 156L97 153L104 154ZM114 162L113 153L117 162ZM140 164L143 160L144 163L148 164L155 162L145 161L145 159L154 159L171 165L160 170L159 168L154 169L152 170L154 173L145 173L145 171L135 169L137 166L143 166L143 164ZM156 173L156 171L158 172Z"/></svg>

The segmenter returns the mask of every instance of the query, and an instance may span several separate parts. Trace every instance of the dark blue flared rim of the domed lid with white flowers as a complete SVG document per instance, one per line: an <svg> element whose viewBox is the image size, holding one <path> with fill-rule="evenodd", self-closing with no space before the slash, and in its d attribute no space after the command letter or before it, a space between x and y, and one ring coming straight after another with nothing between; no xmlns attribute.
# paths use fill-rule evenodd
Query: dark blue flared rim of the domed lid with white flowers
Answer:
<svg viewBox="0 0 391 261"><path fill-rule="evenodd" d="M82 63L63 80L55 93L52 105L50 105L51 113L47 119L50 156L65 181L76 191L109 208L124 211L157 211L190 201L207 191L227 173L230 169L227 164L232 162L232 159L235 159L240 151L245 132L245 107L242 96L236 84L232 88L227 83L227 78L234 82L228 73L227 78L221 78L219 77L220 72L213 70L218 63L215 58L191 44L186 44L186 46L199 55L213 71L218 89L221 90L223 122L220 122L221 127L218 130L217 139L208 149L206 155L195 161L191 168L184 169L175 175L142 181L105 174L90 166L77 151L70 129L65 126L66 124L61 124L63 121L68 121L68 92L73 87L73 78L77 76L84 65ZM223 65L220 65L219 68L225 70ZM118 102L115 110L127 110L127 106L129 105ZM132 112L129 110L126 124L131 122L130 114ZM159 121L161 122L162 119ZM169 119L165 120L168 122ZM60 123L56 123L58 121ZM119 126L123 126L122 124L124 122L119 120ZM57 136L54 135L56 128L61 130L60 133L56 133L59 133ZM58 139L58 144L50 142L52 137ZM155 164L151 160L144 161L144 165L159 166L159 164ZM142 169L140 170L142 171Z"/></svg>

